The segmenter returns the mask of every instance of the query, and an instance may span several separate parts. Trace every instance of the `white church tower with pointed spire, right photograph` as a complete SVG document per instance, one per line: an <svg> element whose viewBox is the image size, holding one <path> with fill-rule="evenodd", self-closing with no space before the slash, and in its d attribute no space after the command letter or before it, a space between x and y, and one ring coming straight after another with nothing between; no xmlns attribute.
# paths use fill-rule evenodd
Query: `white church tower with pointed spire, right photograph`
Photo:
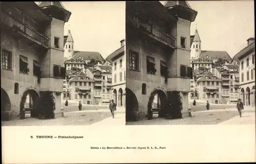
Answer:
<svg viewBox="0 0 256 164"><path fill-rule="evenodd" d="M190 59L198 59L201 54L201 39L198 31L196 30L193 42L191 44Z"/></svg>

